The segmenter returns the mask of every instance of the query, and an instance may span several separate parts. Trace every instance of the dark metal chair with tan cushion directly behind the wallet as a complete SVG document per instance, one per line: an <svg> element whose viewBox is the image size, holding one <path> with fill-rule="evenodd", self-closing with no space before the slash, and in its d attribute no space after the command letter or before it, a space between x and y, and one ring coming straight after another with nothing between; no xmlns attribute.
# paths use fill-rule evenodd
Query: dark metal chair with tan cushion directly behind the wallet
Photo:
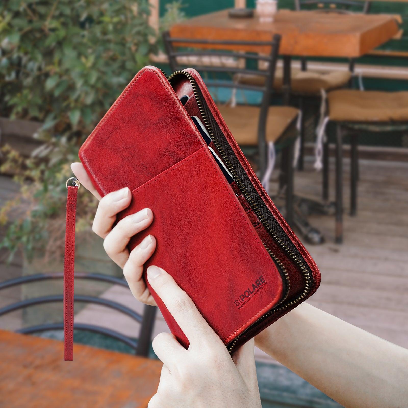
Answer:
<svg viewBox="0 0 408 408"><path fill-rule="evenodd" d="M286 190L286 221L292 224L293 145L298 136L296 123L299 111L290 106L270 106L280 36L275 35L273 40L267 42L247 42L171 38L169 32L164 32L163 40L173 71L180 70L182 65L193 67L202 74L206 85L217 92L223 88L233 89L234 95L237 89L242 89L257 91L262 95L260 106L231 106L220 102L217 106L244 153L257 158L258 177L263 180L266 189L274 153L282 151L284 160L281 160L280 191ZM184 48L179 44L184 44ZM191 47L185 47L190 44ZM244 53L248 45L270 47L271 51L269 55ZM234 51L226 51L231 49ZM266 70L257 69L256 62L259 61L266 62ZM234 81L236 75L260 77L263 84L241 84ZM215 99L217 102L219 98Z"/></svg>

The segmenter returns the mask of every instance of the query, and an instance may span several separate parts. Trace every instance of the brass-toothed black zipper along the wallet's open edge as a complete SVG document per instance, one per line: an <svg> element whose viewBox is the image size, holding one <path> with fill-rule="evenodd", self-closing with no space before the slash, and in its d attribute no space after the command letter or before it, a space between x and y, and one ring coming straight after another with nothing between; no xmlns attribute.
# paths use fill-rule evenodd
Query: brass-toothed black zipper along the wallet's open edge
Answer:
<svg viewBox="0 0 408 408"><path fill-rule="evenodd" d="M251 196L248 194L245 187L243 186L242 181L239 179L236 171L233 168L233 165L231 164L228 157L226 157L226 153L224 152L224 149L222 148L220 142L218 142L218 140L215 138L215 135L214 135L214 133L213 133L213 131L211 129L211 126L208 124L208 120L206 118L206 115L204 114L204 109L202 107L202 103L201 103L200 98L198 96L197 86L195 84L194 78L188 72L175 71L173 74L171 74L169 76L168 80L171 81L176 75L180 75L180 74L185 75L188 78L188 80L190 81L191 86L193 88L193 93L194 93L195 100L197 102L198 109L199 109L199 111L201 113L201 116L202 116L202 119L204 121L204 125L206 126L206 129L207 129L208 133L210 134L211 139L213 140L215 146L217 147L218 152L220 153L220 155L224 159L224 162L225 162L226 166L228 167L228 170L230 171L231 175L233 176L233 179L237 183L237 186L239 187L239 190L241 190L242 194L244 195L247 202L249 203L249 205L251 206L251 208L253 209L253 211L257 215L258 219L261 220L262 224L264 224L265 228L268 230L268 232L271 234L271 236L275 239L275 241L284 249L284 251L286 253L288 253L288 255L293 259L293 261L296 262L296 264L302 270L303 275L305 277L305 281L306 281L305 282L305 288L304 288L302 294L299 295L296 299L282 305L282 303L285 301L285 299L288 297L288 294L289 294L289 289L290 289L290 283L289 283L289 285L287 285L287 290L286 290L287 293L285 294L284 299L277 306L275 306L274 308L269 310L263 316L259 317L257 322L260 322L263 319L265 319L266 317L269 317L269 316L273 315L276 312L279 312L279 311L284 310L284 309L286 309L286 308L288 308L290 306L293 306L294 304L296 304L296 303L300 302L302 299L304 299L304 297L307 295L307 293L310 290L310 284L311 284L312 277L310 275L310 272L309 272L308 268L306 268L306 266L303 264L303 262L293 253L292 250L290 250L290 248L288 248L288 246L283 242L283 240L278 237L277 233L275 233L275 231L273 231L271 225L266 221L264 215L262 215L261 211L259 211L259 208L255 205L255 202L252 200ZM273 259L275 259L275 261L278 262L279 266L282 265L282 263L277 259L277 257L272 253L272 251L268 247L266 247L266 250L271 255L271 257L273 257ZM284 275L285 279L288 282L289 281L288 273L286 272L286 269L284 269L284 271L285 271L285 275ZM237 343L237 340L239 339L239 337L241 337L241 335L236 337L233 340L233 342L230 343L230 346L228 347L228 351L230 353L232 352L232 350L233 350L235 344Z"/></svg>

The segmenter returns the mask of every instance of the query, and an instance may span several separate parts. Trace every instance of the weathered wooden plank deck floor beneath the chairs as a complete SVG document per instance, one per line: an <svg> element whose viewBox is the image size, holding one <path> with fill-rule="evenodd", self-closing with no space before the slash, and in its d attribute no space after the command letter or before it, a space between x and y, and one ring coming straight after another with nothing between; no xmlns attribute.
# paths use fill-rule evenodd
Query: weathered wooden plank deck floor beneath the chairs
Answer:
<svg viewBox="0 0 408 408"><path fill-rule="evenodd" d="M333 167L334 163L331 163ZM344 244L334 244L334 219L310 217L326 237L326 243L306 244L322 273L322 284L309 303L393 343L408 348L408 163L360 162L357 217L349 217L348 164L344 160ZM333 169L332 169L333 170ZM275 177L277 174L275 174ZM331 172L333 186L333 171ZM295 175L295 191L319 196L321 174L306 160L306 170ZM13 194L9 179L0 177L1 200ZM334 198L334 191L330 191ZM21 274L17 258L11 266L0 265L1 280ZM102 296L140 309L141 305L112 287ZM18 300L17 289L0 293L0 307ZM21 315L21 314L20 314ZM18 313L0 317L0 328L13 330L21 325ZM19 323L20 319L20 323ZM106 309L90 305L81 310L76 321L93 321L137 337L138 327L126 317L106 314ZM158 313L155 333L166 330ZM271 361L260 350L257 358Z"/></svg>

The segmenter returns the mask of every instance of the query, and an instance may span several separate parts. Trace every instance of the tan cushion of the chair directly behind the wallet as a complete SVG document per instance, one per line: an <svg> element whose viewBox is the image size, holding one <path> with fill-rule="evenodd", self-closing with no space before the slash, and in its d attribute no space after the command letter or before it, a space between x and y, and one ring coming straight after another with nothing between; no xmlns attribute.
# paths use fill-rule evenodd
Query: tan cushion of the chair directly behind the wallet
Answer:
<svg viewBox="0 0 408 408"><path fill-rule="evenodd" d="M259 107L217 105L228 128L241 146L257 146ZM266 122L266 142L276 142L299 114L291 106L270 106Z"/></svg>

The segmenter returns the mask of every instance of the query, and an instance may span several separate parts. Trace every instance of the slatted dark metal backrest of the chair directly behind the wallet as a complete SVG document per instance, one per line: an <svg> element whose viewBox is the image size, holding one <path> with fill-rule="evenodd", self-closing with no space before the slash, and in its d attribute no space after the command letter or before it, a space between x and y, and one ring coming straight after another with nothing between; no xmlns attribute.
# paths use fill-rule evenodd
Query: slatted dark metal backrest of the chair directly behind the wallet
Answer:
<svg viewBox="0 0 408 408"><path fill-rule="evenodd" d="M171 38L168 31L163 33L164 47L173 71L184 67L197 69L207 87L248 89L262 93L258 119L258 151L261 157L260 167L266 155L266 120L271 102L272 84L275 77L281 36L275 34L269 41L242 40L198 40L191 38ZM252 52L249 53L248 50ZM253 50L259 52L254 53ZM259 62L266 64L265 70L259 70ZM207 80L212 74L215 80ZM229 75L231 80L219 80L217 76ZM259 83L244 84L234 81L236 75L253 75Z"/></svg>

